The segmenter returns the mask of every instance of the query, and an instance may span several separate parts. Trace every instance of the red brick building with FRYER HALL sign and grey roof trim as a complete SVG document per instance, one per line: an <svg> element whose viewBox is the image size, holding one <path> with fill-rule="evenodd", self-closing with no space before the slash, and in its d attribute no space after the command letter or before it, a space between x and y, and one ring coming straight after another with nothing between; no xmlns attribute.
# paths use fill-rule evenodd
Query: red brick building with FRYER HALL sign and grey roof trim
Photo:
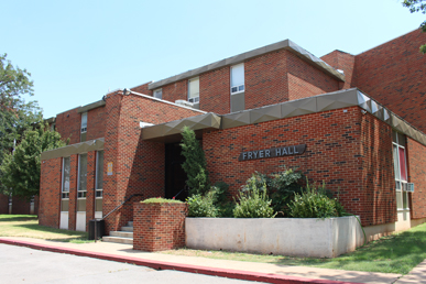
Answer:
<svg viewBox="0 0 426 284"><path fill-rule="evenodd" d="M232 193L254 171L298 167L370 236L425 222L425 41L416 30L318 58L286 40L59 113L52 125L70 145L42 154L40 223L87 230L131 197L109 232L132 220L132 201L175 196L184 125Z"/></svg>

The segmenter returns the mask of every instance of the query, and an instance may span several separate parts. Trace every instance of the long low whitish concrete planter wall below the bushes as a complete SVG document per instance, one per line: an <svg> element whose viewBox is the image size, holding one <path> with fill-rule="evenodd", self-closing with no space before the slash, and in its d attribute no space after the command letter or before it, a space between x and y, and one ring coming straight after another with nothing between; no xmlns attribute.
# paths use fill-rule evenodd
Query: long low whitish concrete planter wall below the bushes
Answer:
<svg viewBox="0 0 426 284"><path fill-rule="evenodd" d="M362 245L356 217L186 218L186 247L294 256L335 258Z"/></svg>

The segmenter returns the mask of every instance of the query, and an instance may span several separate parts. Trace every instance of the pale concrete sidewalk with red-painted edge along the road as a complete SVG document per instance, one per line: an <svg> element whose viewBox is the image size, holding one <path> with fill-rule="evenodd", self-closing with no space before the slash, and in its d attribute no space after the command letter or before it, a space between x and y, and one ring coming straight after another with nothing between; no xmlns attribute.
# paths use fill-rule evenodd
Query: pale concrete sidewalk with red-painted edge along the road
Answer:
<svg viewBox="0 0 426 284"><path fill-rule="evenodd" d="M371 273L316 269L308 266L290 266L271 263L214 260L197 256L182 256L173 254L142 252L134 251L132 249L132 244L120 244L111 242L77 244L29 238L2 237L0 238L0 243L23 245L33 249L91 256L103 260L134 263L152 269L176 270L267 283L426 283L426 280L423 278L423 275L426 275L426 261L423 262L416 269L414 269L412 273L400 278L402 276L401 274L391 273Z"/></svg>

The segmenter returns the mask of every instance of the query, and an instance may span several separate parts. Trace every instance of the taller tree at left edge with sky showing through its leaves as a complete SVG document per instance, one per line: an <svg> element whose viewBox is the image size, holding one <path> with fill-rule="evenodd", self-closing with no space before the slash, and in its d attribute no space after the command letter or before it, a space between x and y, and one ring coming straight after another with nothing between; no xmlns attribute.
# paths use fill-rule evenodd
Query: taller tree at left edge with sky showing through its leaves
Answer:
<svg viewBox="0 0 426 284"><path fill-rule="evenodd" d="M33 81L26 69L13 67L0 55L0 165L10 153L22 133L42 120L36 101L25 102L23 96L33 96ZM0 172L1 179L1 172ZM0 193L7 190L0 183Z"/></svg>

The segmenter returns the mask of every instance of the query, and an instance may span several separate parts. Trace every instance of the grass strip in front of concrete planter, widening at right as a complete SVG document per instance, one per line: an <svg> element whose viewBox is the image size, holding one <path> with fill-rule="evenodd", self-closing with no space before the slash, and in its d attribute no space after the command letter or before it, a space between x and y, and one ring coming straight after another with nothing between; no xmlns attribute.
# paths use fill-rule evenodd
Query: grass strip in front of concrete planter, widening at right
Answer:
<svg viewBox="0 0 426 284"><path fill-rule="evenodd" d="M414 266L426 259L426 223L370 242L354 252L342 254L335 259L291 258L189 249L164 251L163 253L274 263L278 265L407 274Z"/></svg>

